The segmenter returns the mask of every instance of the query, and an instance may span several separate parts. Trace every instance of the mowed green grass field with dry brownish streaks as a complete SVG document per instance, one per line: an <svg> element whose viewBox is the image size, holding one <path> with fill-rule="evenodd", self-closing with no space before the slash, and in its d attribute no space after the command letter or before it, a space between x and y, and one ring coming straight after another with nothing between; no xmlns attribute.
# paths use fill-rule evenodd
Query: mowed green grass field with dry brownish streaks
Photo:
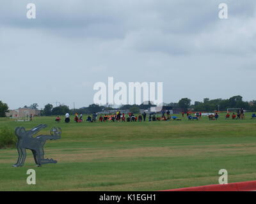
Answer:
<svg viewBox="0 0 256 204"><path fill-rule="evenodd" d="M57 124L54 117L33 122L0 119L0 126L31 129L47 124L62 129L62 138L47 141L45 157L57 164L36 167L30 150L22 168L13 168L17 150L0 149L0 191L159 191L256 180L256 120L168 122L83 122ZM63 118L63 117L62 117ZM63 119L62 119L63 120ZM26 171L36 170L36 185Z"/></svg>

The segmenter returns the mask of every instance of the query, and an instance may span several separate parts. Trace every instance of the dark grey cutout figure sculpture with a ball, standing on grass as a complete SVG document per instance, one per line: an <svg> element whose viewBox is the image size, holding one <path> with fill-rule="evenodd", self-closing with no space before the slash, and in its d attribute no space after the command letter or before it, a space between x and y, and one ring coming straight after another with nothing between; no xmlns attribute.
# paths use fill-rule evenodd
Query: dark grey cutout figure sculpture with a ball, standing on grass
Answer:
<svg viewBox="0 0 256 204"><path fill-rule="evenodd" d="M13 167L24 165L26 159L26 149L30 149L32 151L37 166L41 166L42 164L57 163L57 161L53 159L44 159L44 144L46 140L60 139L61 129L52 128L51 135L39 135L35 138L33 137L33 135L36 135L36 133L46 127L47 125L40 124L39 126L36 126L29 131L26 131L25 128L15 129L15 135L18 138L16 147L18 150L19 158L17 163L14 164Z"/></svg>

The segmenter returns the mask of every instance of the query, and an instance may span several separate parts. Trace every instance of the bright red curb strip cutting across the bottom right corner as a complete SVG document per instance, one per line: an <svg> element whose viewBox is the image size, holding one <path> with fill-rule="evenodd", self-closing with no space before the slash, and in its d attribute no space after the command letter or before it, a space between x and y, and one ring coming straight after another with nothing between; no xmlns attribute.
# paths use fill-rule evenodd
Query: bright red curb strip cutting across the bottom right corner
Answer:
<svg viewBox="0 0 256 204"><path fill-rule="evenodd" d="M185 187L165 191L256 191L256 181L239 182L232 184L216 184L209 186Z"/></svg>

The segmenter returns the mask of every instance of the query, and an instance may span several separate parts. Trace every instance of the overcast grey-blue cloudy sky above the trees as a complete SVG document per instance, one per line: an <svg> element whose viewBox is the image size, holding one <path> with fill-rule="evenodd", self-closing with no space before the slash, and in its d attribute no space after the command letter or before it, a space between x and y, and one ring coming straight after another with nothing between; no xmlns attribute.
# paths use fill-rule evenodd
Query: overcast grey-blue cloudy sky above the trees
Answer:
<svg viewBox="0 0 256 204"><path fill-rule="evenodd" d="M108 77L163 82L165 103L256 99L255 8L255 0L1 0L0 101L79 108Z"/></svg>

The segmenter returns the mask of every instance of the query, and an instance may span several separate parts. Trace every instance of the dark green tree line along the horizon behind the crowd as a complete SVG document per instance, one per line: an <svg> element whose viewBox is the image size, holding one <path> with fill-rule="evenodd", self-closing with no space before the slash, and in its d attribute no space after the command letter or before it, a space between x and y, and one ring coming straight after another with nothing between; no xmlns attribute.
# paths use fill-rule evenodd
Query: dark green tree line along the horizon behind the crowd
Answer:
<svg viewBox="0 0 256 204"><path fill-rule="evenodd" d="M225 111L227 108L244 108L249 112L256 112L256 100L253 101L243 101L242 96L233 96L229 99L209 99L204 98L204 101L195 101L194 104L191 104L191 99L182 98L177 103L168 103L166 106L172 106L174 109L179 108L180 112L187 112L188 110L200 111L200 112L213 112L215 110ZM92 114L97 112L108 112L109 110L130 110L133 113L139 113L140 109L148 109L152 106L156 106L150 101L148 105L122 105L119 108L111 108L106 106L99 105L89 105L88 107L70 109L67 105L60 105L53 107L51 104L45 105L44 109L41 110L41 115L50 116L50 115L65 115L65 113L83 113L83 114ZM37 103L33 103L30 106L24 106L24 108L38 109ZM5 113L8 112L8 105L0 101L0 117L4 117Z"/></svg>

